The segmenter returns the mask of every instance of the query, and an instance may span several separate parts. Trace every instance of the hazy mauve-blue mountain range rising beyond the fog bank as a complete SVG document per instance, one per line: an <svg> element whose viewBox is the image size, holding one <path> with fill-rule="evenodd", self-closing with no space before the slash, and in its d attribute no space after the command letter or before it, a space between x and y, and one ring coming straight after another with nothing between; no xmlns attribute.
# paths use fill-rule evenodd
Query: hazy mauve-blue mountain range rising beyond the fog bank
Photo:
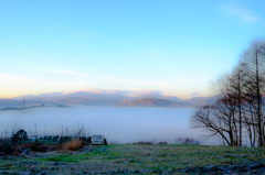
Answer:
<svg viewBox="0 0 265 175"><path fill-rule="evenodd" d="M134 92L134 91L132 91ZM204 105L211 105L215 101L214 97L193 97L188 100L181 100L174 96L162 96L161 91L150 91L146 94L136 94L135 96L128 96L131 91L129 90L116 90L116 91L74 91L74 92L47 92L40 95L26 95L14 97L12 99L0 99L0 108L6 107L23 107L24 106L57 106L57 105L83 105L83 106L137 106L137 101L140 98L149 99L138 106L193 106L200 107ZM151 100L152 99L152 100ZM135 101L134 101L135 100ZM144 100L144 98L142 98ZM165 100L165 101L163 101ZM124 101L127 103L121 105ZM134 102L129 102L134 101Z"/></svg>

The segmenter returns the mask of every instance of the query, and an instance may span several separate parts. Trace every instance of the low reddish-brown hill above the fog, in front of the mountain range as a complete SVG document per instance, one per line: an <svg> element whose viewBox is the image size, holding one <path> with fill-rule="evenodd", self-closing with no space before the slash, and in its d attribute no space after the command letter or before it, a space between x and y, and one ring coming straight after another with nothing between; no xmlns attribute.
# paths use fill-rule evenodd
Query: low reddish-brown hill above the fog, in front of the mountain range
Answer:
<svg viewBox="0 0 265 175"><path fill-rule="evenodd" d="M172 102L165 99L152 99L152 98L145 98L145 99L137 99L132 101L127 101L117 105L117 107L182 107L189 108L192 107L190 103L182 103L182 102Z"/></svg>

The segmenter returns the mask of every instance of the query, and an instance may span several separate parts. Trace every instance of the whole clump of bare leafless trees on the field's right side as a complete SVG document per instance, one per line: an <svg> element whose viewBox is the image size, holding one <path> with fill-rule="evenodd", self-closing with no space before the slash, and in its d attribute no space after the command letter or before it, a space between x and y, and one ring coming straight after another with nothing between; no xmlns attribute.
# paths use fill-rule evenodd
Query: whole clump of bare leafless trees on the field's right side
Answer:
<svg viewBox="0 0 265 175"><path fill-rule="evenodd" d="M251 43L237 65L212 84L216 102L199 108L193 128L206 129L233 146L265 145L265 40Z"/></svg>

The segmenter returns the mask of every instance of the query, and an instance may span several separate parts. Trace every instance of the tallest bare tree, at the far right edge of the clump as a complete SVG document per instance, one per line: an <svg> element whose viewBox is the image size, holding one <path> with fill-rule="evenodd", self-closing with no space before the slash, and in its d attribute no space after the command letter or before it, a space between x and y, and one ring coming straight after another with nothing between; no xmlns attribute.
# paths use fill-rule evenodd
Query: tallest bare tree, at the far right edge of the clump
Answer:
<svg viewBox="0 0 265 175"><path fill-rule="evenodd" d="M255 125L258 134L258 146L264 146L264 117L263 99L265 92L265 42L255 41L242 55L243 67L247 74L245 90L248 103L255 116Z"/></svg>

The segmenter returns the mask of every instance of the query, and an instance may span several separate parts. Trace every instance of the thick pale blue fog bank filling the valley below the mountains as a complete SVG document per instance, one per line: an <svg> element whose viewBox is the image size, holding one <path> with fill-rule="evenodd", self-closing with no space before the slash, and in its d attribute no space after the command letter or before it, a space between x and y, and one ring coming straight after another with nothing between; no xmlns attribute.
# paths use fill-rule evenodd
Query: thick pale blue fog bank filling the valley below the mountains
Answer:
<svg viewBox="0 0 265 175"><path fill-rule="evenodd" d="M87 135L103 134L109 142L134 143L167 141L176 138L193 138L201 144L220 144L218 140L205 140L205 133L191 129L190 117L195 109L132 108L132 107L43 107L25 110L0 111L0 134L24 129L34 134L75 134L77 129ZM4 133L6 132L6 133ZM1 135L0 135L1 136Z"/></svg>

